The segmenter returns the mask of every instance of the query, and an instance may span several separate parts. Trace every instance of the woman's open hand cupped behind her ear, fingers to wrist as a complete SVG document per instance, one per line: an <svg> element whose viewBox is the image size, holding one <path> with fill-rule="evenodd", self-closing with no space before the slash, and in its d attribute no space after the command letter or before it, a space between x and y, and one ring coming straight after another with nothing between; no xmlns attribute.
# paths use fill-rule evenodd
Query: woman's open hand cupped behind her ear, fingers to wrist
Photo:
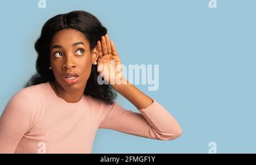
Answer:
<svg viewBox="0 0 256 165"><path fill-rule="evenodd" d="M121 60L113 41L109 40L108 35L102 36L101 41L97 41L97 49L97 71L100 73L101 77L111 85L122 84L124 78Z"/></svg>

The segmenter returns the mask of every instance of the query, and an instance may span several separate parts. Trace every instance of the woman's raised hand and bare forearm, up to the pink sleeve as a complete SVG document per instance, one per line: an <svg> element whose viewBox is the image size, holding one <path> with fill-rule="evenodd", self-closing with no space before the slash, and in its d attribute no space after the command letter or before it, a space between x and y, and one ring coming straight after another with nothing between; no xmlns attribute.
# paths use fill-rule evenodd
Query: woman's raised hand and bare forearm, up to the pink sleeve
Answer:
<svg viewBox="0 0 256 165"><path fill-rule="evenodd" d="M109 41L108 35L101 37L101 41L97 43L97 48L99 53L97 70L104 81L109 82L119 94L129 100L137 109L151 105L153 100L123 77L121 60L113 41Z"/></svg>

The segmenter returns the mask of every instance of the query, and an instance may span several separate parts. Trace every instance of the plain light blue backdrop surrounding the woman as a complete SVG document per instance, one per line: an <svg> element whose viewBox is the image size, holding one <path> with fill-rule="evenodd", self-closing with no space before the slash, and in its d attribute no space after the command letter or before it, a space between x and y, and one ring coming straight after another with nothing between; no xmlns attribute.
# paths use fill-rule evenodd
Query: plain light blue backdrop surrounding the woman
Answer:
<svg viewBox="0 0 256 165"><path fill-rule="evenodd" d="M38 0L39 1L39 0ZM72 10L108 28L122 64L159 65L159 89L148 91L183 129L174 141L99 129L93 153L255 153L256 1L1 1L3 77L0 114L35 73L34 43L52 16ZM136 108L119 96L126 109Z"/></svg>

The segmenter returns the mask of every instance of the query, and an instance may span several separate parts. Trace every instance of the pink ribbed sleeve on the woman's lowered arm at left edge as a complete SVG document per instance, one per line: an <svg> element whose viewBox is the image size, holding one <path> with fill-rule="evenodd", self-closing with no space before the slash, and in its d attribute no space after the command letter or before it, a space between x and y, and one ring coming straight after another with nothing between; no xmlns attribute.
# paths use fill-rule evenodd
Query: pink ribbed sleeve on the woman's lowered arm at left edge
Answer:
<svg viewBox="0 0 256 165"><path fill-rule="evenodd" d="M0 153L15 153L20 139L34 122L36 94L31 89L16 92L0 117ZM33 101L34 100L34 101Z"/></svg>

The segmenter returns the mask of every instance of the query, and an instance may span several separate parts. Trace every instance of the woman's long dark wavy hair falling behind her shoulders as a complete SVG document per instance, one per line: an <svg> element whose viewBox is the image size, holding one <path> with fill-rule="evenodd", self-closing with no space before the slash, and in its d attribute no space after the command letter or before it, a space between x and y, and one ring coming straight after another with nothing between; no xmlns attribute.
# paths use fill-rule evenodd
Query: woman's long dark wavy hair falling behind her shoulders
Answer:
<svg viewBox="0 0 256 165"><path fill-rule="evenodd" d="M46 82L54 82L55 77L52 70L49 70L49 44L55 33L64 28L76 29L86 36L90 44L90 50L96 46L97 41L107 33L107 29L92 14L86 11L72 11L67 14L59 14L47 20L44 24L41 35L36 40L35 50L38 53L36 60L36 71L30 80L24 84L23 88ZM84 95L90 95L93 98L104 101L107 104L113 104L117 98L117 92L110 84L98 84L97 77L99 73L97 66L92 65L92 71L86 83Z"/></svg>

